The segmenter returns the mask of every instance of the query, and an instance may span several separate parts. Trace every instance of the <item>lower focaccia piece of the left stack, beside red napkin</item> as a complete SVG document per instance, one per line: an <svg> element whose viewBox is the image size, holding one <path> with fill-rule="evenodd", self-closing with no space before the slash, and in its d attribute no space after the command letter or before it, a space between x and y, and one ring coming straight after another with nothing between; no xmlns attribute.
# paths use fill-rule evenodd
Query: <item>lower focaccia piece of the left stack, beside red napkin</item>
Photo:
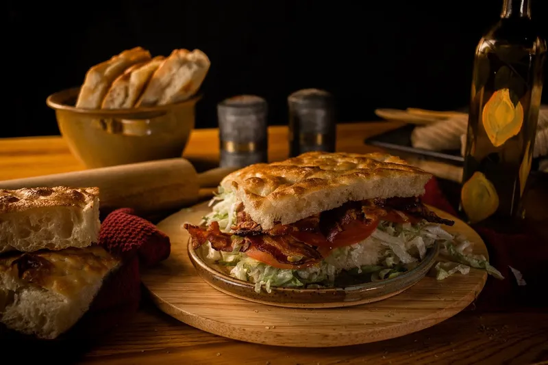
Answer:
<svg viewBox="0 0 548 365"><path fill-rule="evenodd" d="M70 329L121 265L103 247L0 256L0 322L38 338Z"/></svg>

